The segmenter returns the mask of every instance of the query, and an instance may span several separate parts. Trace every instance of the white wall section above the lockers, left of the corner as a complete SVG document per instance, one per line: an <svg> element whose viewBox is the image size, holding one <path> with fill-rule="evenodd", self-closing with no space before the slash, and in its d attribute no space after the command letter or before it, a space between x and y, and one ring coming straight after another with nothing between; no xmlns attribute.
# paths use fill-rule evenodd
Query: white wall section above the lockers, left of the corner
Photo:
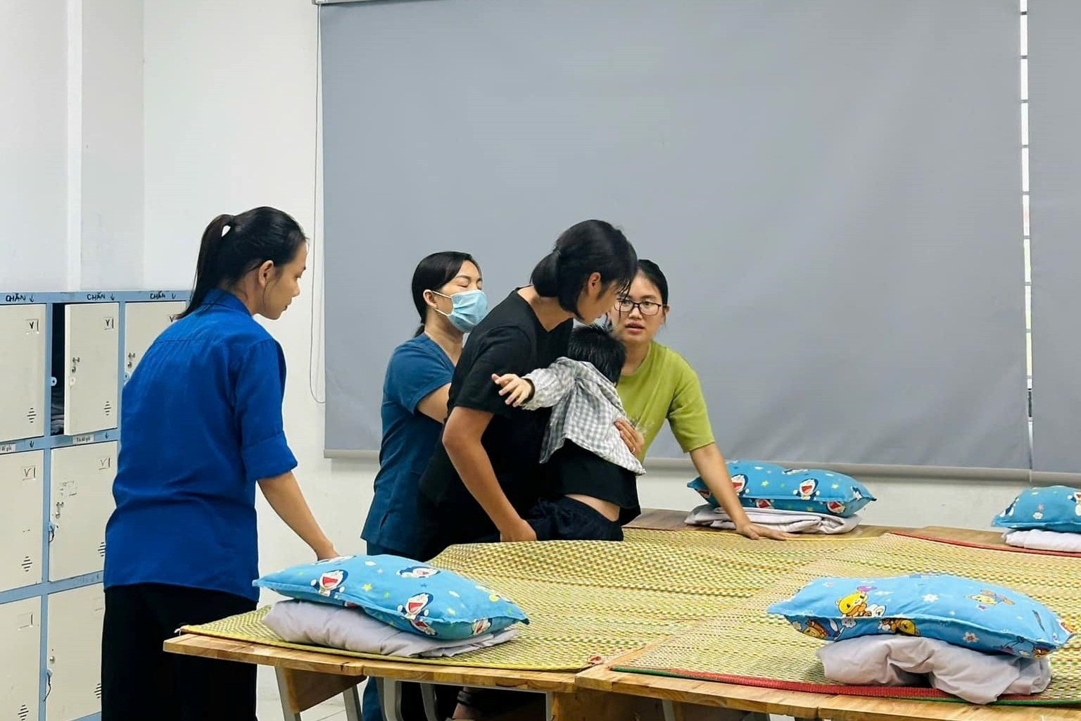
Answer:
<svg viewBox="0 0 1081 721"><path fill-rule="evenodd" d="M0 291L143 284L143 0L0 3Z"/></svg>

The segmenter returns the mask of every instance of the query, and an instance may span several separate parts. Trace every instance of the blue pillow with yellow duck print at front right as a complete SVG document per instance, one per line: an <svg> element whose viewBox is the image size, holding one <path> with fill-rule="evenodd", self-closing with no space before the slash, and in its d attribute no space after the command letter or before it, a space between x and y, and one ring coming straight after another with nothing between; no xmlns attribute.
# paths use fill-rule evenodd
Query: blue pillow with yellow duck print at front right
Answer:
<svg viewBox="0 0 1081 721"><path fill-rule="evenodd" d="M818 578L769 612L826 641L922 636L1026 658L1046 656L1072 633L1051 610L1023 593L947 574Z"/></svg>

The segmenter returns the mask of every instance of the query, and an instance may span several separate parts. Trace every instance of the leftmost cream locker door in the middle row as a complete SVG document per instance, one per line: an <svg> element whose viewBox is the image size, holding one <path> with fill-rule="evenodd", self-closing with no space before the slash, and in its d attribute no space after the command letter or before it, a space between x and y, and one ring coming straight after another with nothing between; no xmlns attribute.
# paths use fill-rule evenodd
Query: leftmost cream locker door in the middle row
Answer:
<svg viewBox="0 0 1081 721"><path fill-rule="evenodd" d="M41 582L44 462L44 451L0 455L0 591Z"/></svg>

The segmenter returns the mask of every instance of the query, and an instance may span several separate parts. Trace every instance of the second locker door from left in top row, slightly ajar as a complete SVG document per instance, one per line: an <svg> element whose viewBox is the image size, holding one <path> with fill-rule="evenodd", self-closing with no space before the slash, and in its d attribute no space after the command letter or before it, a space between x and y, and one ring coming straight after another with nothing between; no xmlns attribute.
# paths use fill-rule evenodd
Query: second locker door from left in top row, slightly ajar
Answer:
<svg viewBox="0 0 1081 721"><path fill-rule="evenodd" d="M64 432L117 427L119 303L64 307ZM58 378L58 370L53 374Z"/></svg>

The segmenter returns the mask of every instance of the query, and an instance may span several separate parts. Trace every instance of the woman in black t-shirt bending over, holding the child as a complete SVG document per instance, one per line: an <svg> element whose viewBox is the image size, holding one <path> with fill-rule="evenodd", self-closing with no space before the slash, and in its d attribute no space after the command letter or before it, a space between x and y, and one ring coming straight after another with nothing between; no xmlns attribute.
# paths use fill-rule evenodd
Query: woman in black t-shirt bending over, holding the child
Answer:
<svg viewBox="0 0 1081 721"><path fill-rule="evenodd" d="M451 383L442 442L421 478L417 534L425 558L498 533L536 540L521 513L544 493L540 443L548 412L507 405L493 376L524 375L566 353L572 319L609 311L635 278L638 256L603 221L565 230L536 268L473 330ZM636 432L620 428L628 444Z"/></svg>

